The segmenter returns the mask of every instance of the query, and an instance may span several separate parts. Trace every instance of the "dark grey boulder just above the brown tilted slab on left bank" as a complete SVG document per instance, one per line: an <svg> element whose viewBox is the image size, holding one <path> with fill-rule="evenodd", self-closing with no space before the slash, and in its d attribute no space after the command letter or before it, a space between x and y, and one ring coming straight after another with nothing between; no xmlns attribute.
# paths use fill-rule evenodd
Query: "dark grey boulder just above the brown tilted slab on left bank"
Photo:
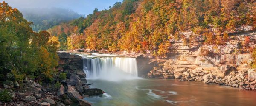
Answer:
<svg viewBox="0 0 256 106"><path fill-rule="evenodd" d="M76 90L79 93L82 93L84 91L82 82L81 82L81 80L79 80L79 78L76 75L70 76L70 82L67 83L67 86L69 86L69 85L76 86Z"/></svg>

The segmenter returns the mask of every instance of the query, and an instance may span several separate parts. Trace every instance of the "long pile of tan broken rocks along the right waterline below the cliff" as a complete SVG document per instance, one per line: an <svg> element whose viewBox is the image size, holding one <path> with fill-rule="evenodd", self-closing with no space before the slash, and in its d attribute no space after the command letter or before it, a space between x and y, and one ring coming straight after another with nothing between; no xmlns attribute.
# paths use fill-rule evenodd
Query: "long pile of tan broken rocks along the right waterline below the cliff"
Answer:
<svg viewBox="0 0 256 106"><path fill-rule="evenodd" d="M219 84L245 90L256 90L256 71L249 69L239 72L234 67L223 65L216 67L217 70L204 70L201 67L195 69L180 68L166 70L162 67L154 67L148 73L147 78L179 79L180 81L196 81L206 84Z"/></svg>

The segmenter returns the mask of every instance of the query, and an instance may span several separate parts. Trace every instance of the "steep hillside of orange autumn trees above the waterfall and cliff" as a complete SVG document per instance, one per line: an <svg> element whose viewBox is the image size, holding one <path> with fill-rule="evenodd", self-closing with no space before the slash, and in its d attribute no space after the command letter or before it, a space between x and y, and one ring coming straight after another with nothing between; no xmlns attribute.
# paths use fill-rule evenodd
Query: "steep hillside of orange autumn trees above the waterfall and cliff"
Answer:
<svg viewBox="0 0 256 106"><path fill-rule="evenodd" d="M256 0L124 0L49 29L62 49L150 51L166 55L170 40L222 45L228 32L256 28ZM186 38L181 32L193 31Z"/></svg>

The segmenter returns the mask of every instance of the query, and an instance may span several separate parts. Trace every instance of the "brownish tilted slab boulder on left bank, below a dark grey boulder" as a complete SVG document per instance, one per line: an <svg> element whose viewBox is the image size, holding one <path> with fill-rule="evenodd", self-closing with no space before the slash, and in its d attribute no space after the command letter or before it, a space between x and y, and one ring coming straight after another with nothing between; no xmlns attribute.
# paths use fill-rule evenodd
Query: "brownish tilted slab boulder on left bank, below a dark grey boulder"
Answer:
<svg viewBox="0 0 256 106"><path fill-rule="evenodd" d="M67 87L67 95L68 97L73 101L78 103L79 99L82 99L83 97L79 94L78 91L76 91L75 86L68 85Z"/></svg>

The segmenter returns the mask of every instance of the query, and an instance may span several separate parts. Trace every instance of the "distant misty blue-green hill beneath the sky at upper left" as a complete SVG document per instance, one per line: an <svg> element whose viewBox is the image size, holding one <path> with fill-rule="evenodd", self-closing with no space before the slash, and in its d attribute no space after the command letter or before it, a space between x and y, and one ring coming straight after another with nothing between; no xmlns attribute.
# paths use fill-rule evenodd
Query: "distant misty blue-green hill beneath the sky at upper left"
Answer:
<svg viewBox="0 0 256 106"><path fill-rule="evenodd" d="M31 27L37 32L82 16L72 10L62 8L25 8L20 11L26 20L34 23Z"/></svg>

